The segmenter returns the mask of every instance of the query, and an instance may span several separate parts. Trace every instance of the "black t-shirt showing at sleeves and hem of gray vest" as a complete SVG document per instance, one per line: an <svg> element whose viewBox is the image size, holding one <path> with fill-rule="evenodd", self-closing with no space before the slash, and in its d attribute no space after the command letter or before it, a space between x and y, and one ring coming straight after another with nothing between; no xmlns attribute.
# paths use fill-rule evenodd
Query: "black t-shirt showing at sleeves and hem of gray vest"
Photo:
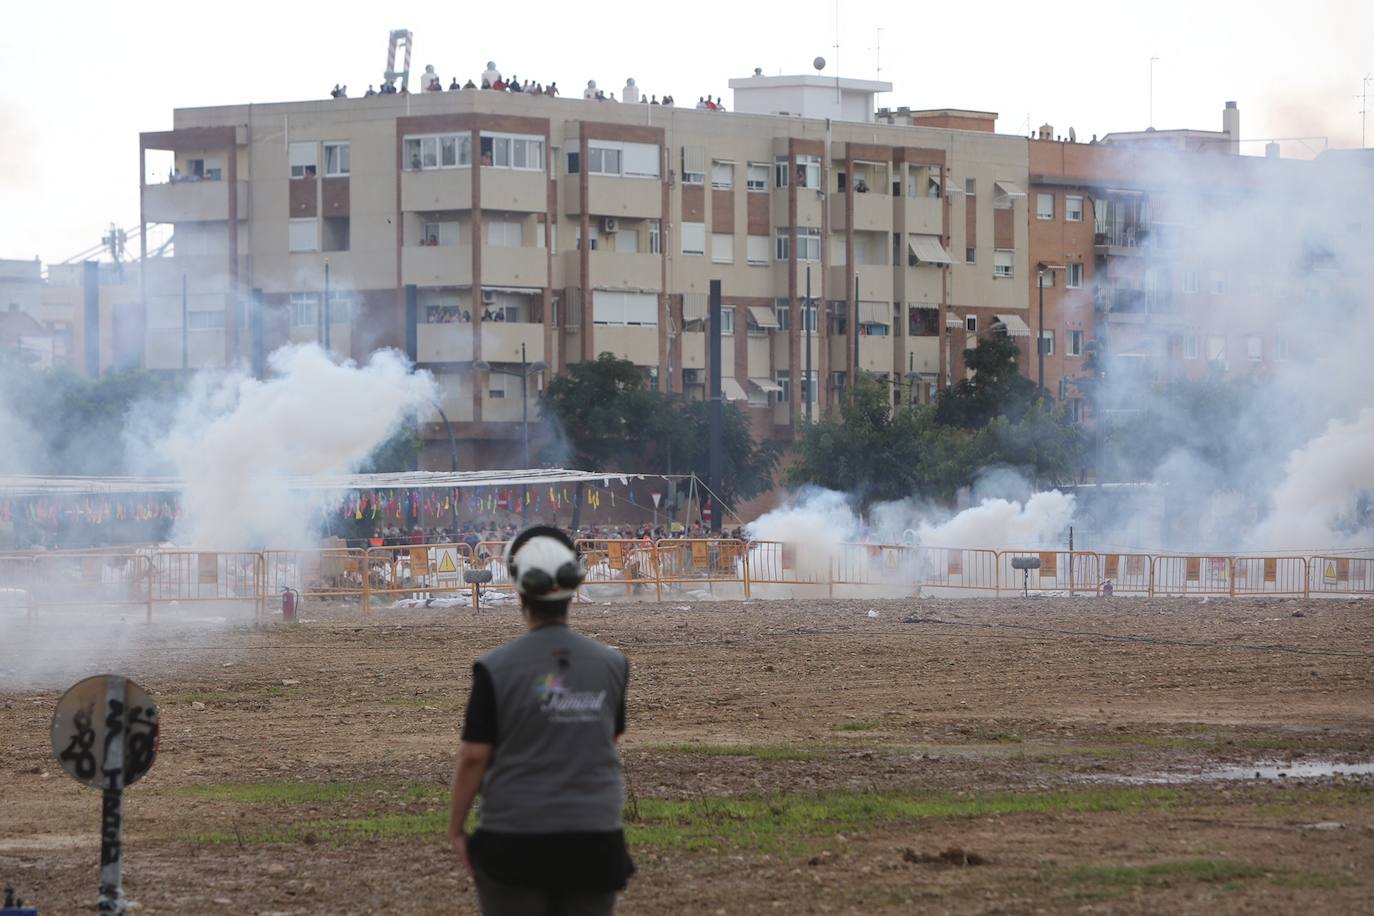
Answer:
<svg viewBox="0 0 1374 916"><path fill-rule="evenodd" d="M625 732L625 700L616 713L616 735ZM463 740L500 746L496 687L486 667L473 665L473 692L463 718ZM621 890L635 873L625 831L565 834L473 832L473 864L503 884L551 893L603 894Z"/></svg>

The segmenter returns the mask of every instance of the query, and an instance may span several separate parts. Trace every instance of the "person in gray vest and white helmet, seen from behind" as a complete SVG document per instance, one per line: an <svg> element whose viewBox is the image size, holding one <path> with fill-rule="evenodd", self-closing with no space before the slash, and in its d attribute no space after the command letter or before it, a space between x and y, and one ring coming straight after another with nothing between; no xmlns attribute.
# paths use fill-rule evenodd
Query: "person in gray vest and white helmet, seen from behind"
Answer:
<svg viewBox="0 0 1374 916"><path fill-rule="evenodd" d="M635 872L616 747L629 662L567 626L587 575L567 534L525 529L506 566L529 629L473 665L448 836L485 916L611 913Z"/></svg>

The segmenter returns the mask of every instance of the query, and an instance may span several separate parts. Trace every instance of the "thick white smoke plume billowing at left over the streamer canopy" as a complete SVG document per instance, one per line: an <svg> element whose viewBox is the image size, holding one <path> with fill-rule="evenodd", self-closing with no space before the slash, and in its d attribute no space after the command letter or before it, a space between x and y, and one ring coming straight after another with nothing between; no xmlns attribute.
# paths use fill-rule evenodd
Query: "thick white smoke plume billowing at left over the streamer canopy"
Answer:
<svg viewBox="0 0 1374 916"><path fill-rule="evenodd" d="M409 416L436 400L429 372L396 350L367 364L335 363L319 346L268 357L258 380L202 375L155 442L185 482L174 540L201 548L306 547L323 494L293 492L289 479L356 470Z"/></svg>

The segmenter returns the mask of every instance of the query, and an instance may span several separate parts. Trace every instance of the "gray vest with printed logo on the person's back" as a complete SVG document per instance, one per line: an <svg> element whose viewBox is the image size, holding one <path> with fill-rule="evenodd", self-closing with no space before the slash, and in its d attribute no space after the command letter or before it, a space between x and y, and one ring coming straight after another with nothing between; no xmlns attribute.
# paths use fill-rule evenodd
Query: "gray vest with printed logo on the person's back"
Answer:
<svg viewBox="0 0 1374 916"><path fill-rule="evenodd" d="M629 662L566 626L541 626L478 659L496 692L497 742L482 777L482 829L621 829L616 715Z"/></svg>

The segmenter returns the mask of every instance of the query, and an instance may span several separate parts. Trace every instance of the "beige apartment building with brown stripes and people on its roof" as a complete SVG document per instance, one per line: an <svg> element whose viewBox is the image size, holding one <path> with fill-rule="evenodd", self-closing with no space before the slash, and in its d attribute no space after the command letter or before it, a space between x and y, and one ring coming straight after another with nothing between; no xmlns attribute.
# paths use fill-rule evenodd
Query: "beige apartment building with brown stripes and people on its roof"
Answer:
<svg viewBox="0 0 1374 916"><path fill-rule="evenodd" d="M177 110L140 137L140 238L174 238L142 262L144 361L400 347L438 378L463 463L510 464L522 408L600 353L705 397L719 279L723 393L756 434L791 438L856 368L926 401L980 332L1026 327L1028 147L987 113L904 117L482 91Z"/></svg>

